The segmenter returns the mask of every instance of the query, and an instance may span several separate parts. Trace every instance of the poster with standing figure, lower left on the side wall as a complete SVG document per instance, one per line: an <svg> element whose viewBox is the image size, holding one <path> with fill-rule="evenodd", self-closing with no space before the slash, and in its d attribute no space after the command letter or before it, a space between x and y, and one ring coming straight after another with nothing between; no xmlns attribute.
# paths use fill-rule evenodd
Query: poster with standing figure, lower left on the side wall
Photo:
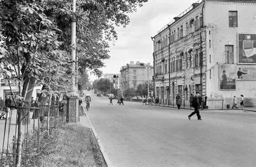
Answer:
<svg viewBox="0 0 256 167"><path fill-rule="evenodd" d="M220 90L236 90L236 67L220 65Z"/></svg>

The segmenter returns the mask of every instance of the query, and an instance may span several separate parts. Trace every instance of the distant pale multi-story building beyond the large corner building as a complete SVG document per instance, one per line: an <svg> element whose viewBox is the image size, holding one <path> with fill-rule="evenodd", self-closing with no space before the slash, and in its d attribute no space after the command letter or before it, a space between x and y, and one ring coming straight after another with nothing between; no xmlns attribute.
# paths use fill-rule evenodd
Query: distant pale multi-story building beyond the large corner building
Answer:
<svg viewBox="0 0 256 167"><path fill-rule="evenodd" d="M131 61L120 69L122 90L136 88L138 84L152 81L153 66L150 63L141 63Z"/></svg>

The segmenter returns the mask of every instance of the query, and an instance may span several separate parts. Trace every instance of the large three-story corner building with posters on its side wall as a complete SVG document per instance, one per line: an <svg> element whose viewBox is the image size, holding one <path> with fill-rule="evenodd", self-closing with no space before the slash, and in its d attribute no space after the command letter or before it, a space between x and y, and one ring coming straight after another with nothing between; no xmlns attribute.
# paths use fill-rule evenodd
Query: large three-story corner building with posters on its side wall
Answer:
<svg viewBox="0 0 256 167"><path fill-rule="evenodd" d="M177 94L189 100L200 91L207 100L224 100L224 106L241 94L245 106L256 104L255 0L197 1L152 40L161 102Z"/></svg>

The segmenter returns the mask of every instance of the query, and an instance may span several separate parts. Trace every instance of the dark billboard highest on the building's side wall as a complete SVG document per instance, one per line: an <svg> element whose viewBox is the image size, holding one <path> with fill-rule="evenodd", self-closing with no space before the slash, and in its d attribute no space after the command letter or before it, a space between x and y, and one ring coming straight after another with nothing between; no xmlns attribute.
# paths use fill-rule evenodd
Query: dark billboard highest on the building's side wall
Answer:
<svg viewBox="0 0 256 167"><path fill-rule="evenodd" d="M239 64L256 64L256 34L238 34L237 61Z"/></svg>

